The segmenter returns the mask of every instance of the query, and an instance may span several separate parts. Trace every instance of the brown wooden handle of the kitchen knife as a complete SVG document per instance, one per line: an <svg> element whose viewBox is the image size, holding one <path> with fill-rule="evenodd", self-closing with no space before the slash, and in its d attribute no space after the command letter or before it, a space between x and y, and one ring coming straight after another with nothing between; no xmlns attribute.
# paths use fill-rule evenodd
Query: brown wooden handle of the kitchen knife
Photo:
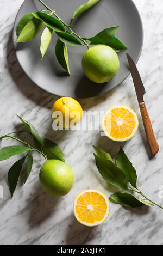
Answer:
<svg viewBox="0 0 163 256"><path fill-rule="evenodd" d="M141 111L143 124L145 126L147 139L148 139L148 142L149 142L149 147L151 148L152 155L154 156L159 151L159 145L158 145L158 143L156 141L156 138L154 136L151 120L149 118L145 102L139 103L139 106L140 106L140 111Z"/></svg>

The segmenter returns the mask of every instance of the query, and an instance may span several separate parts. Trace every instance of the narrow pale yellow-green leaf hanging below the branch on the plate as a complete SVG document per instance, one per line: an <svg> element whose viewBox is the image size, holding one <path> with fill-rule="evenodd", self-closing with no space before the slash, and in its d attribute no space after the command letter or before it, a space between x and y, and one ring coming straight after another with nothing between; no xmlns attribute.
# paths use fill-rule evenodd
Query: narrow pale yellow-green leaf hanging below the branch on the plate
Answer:
<svg viewBox="0 0 163 256"><path fill-rule="evenodd" d="M41 35L41 45L40 51L42 54L42 58L45 55L47 48L52 40L53 29L52 28L45 28Z"/></svg>

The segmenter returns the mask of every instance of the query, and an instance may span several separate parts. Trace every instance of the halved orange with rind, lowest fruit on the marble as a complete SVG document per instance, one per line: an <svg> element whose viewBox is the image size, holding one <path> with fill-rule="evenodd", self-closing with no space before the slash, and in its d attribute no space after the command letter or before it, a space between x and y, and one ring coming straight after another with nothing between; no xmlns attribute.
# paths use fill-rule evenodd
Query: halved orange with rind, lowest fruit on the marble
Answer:
<svg viewBox="0 0 163 256"><path fill-rule="evenodd" d="M85 190L78 194L73 204L74 216L89 227L103 223L109 215L108 198L98 190Z"/></svg>

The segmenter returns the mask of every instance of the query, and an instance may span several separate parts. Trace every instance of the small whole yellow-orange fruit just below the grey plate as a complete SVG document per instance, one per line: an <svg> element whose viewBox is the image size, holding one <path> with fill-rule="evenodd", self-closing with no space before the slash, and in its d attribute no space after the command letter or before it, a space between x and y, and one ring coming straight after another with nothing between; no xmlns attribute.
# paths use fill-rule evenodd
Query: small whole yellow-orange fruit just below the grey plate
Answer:
<svg viewBox="0 0 163 256"><path fill-rule="evenodd" d="M59 121L60 113L62 120ZM83 109L80 103L71 97L61 97L52 107L54 121L61 127L69 128L76 125L82 118Z"/></svg>

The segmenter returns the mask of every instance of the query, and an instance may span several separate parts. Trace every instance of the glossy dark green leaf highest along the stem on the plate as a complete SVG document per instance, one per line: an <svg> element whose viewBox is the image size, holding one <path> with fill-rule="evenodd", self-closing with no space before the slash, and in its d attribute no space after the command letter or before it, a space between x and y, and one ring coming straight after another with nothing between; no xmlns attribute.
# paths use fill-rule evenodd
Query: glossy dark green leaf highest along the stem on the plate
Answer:
<svg viewBox="0 0 163 256"><path fill-rule="evenodd" d="M58 32L65 31L64 25L62 25L61 21L59 21L58 19L56 19L46 13L42 13L42 11L37 11L32 14L34 15L34 17L36 19L40 19L41 21L43 21L43 23L45 25L47 25L49 28L52 28L53 30L58 31Z"/></svg>

